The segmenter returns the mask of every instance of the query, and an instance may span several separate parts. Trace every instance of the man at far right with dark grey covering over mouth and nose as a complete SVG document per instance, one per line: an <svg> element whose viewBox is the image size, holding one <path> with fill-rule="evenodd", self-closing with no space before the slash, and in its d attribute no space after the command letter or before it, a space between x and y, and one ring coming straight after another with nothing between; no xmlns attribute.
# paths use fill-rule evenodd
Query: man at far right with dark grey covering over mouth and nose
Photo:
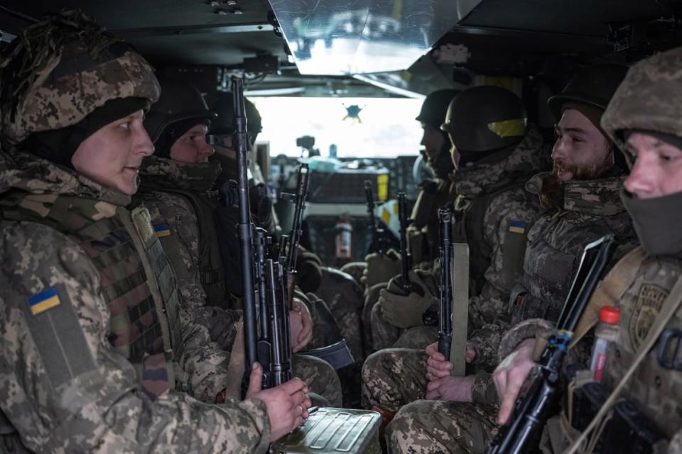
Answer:
<svg viewBox="0 0 682 454"><path fill-rule="evenodd" d="M681 67L682 48L639 62L627 73L601 121L603 130L624 151L631 168L624 182L622 201L642 244L605 278L606 287L607 283L615 282L612 275L622 277L619 291L607 301L620 310L619 336L607 350L602 384L607 394L617 385L624 385L619 400L629 401L639 411L638 431L642 426L654 430L662 437L656 452L664 452L669 441L669 453L679 453L682 447L682 416L676 411L682 398L675 391L682 376L674 366L679 357L673 354L668 364L664 361L666 354L660 353L666 352L666 346L679 342L682 328L682 294L676 285L682 275L682 238L675 221L682 196ZM547 325L539 319L528 320L524 326L512 328L505 338L509 339L507 351L516 348L494 373L502 401L499 423L509 421L521 384L533 367L531 337ZM664 335L659 338L656 333L661 331ZM653 337L648 338L652 333ZM670 336L671 333L677 334ZM583 339L581 343L589 343L589 337ZM578 353L581 350L587 349L578 349ZM586 361L589 356L582 355L582 359L583 366L589 367ZM634 374L629 380L624 379L632 367ZM592 412L590 418L593 416ZM558 425L558 419L561 417L551 419L546 428L560 426L563 430L556 431L560 436L544 446L545 452L563 452L580 435L568 424ZM601 433L609 431L610 423L606 423ZM627 430L619 431L619 436L624 443L632 441L627 438ZM605 445L602 452L608 453L610 448Z"/></svg>

